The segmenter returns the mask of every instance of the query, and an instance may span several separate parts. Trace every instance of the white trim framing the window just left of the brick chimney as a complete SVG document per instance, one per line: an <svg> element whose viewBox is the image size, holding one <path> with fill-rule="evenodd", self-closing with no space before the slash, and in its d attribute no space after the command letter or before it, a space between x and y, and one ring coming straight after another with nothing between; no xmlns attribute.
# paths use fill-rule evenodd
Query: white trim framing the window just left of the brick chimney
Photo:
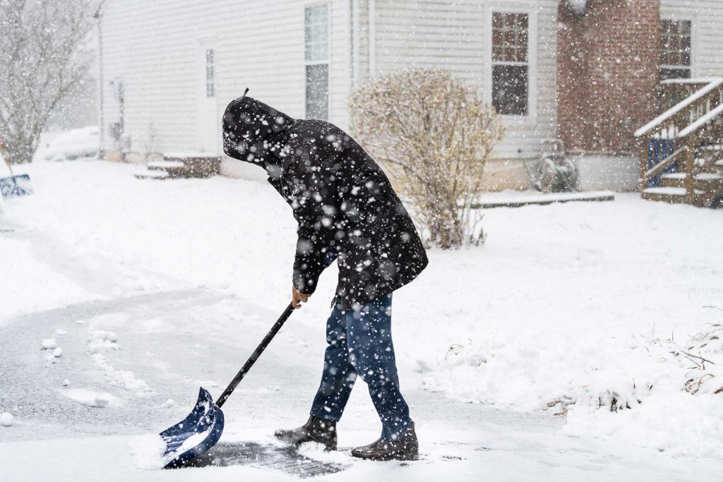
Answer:
<svg viewBox="0 0 723 482"><path fill-rule="evenodd" d="M493 1L487 4L484 9L484 101L492 105L492 12L527 14L527 59L523 62L495 62L495 64L527 65L528 66L528 92L527 92L527 115L513 116L502 114L505 124L513 126L536 124L537 121L537 7L531 4L515 1Z"/></svg>

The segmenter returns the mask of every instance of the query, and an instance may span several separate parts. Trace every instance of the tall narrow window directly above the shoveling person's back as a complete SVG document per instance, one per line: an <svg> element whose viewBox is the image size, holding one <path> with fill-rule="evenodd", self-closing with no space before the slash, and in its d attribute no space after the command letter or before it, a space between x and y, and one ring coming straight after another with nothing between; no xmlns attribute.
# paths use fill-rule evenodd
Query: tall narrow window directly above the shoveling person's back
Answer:
<svg viewBox="0 0 723 482"><path fill-rule="evenodd" d="M329 7L314 5L304 12L307 119L329 119Z"/></svg>

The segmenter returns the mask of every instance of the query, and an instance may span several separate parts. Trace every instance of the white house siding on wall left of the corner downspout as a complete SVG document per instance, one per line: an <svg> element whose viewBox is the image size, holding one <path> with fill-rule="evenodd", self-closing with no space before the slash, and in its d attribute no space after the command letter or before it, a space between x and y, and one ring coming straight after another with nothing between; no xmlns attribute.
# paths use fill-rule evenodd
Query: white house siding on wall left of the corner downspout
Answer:
<svg viewBox="0 0 723 482"><path fill-rule="evenodd" d="M126 132L135 152L220 154L223 108L245 87L249 95L303 116L304 7L320 3L330 6L330 118L345 125L349 0L114 0L102 24L106 128L119 118L108 87L114 77L124 79ZM202 45L215 50L213 129L201 125ZM215 138L210 151L208 135ZM112 148L107 135L106 147Z"/></svg>

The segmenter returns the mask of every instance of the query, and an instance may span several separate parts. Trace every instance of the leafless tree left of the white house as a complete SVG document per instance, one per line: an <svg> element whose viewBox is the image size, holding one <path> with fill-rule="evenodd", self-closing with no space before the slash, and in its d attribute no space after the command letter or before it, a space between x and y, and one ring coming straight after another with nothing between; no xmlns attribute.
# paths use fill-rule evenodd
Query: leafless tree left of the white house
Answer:
<svg viewBox="0 0 723 482"><path fill-rule="evenodd" d="M59 103L87 82L85 49L102 0L0 0L0 134L27 163Z"/></svg>

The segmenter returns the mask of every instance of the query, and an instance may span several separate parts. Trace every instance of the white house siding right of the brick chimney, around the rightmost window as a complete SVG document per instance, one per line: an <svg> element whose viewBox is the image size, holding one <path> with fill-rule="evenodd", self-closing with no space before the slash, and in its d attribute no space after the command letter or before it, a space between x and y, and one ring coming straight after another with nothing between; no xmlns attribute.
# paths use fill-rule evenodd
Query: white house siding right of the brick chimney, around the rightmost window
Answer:
<svg viewBox="0 0 723 482"><path fill-rule="evenodd" d="M691 21L693 77L723 75L722 0L661 0L660 17Z"/></svg>

